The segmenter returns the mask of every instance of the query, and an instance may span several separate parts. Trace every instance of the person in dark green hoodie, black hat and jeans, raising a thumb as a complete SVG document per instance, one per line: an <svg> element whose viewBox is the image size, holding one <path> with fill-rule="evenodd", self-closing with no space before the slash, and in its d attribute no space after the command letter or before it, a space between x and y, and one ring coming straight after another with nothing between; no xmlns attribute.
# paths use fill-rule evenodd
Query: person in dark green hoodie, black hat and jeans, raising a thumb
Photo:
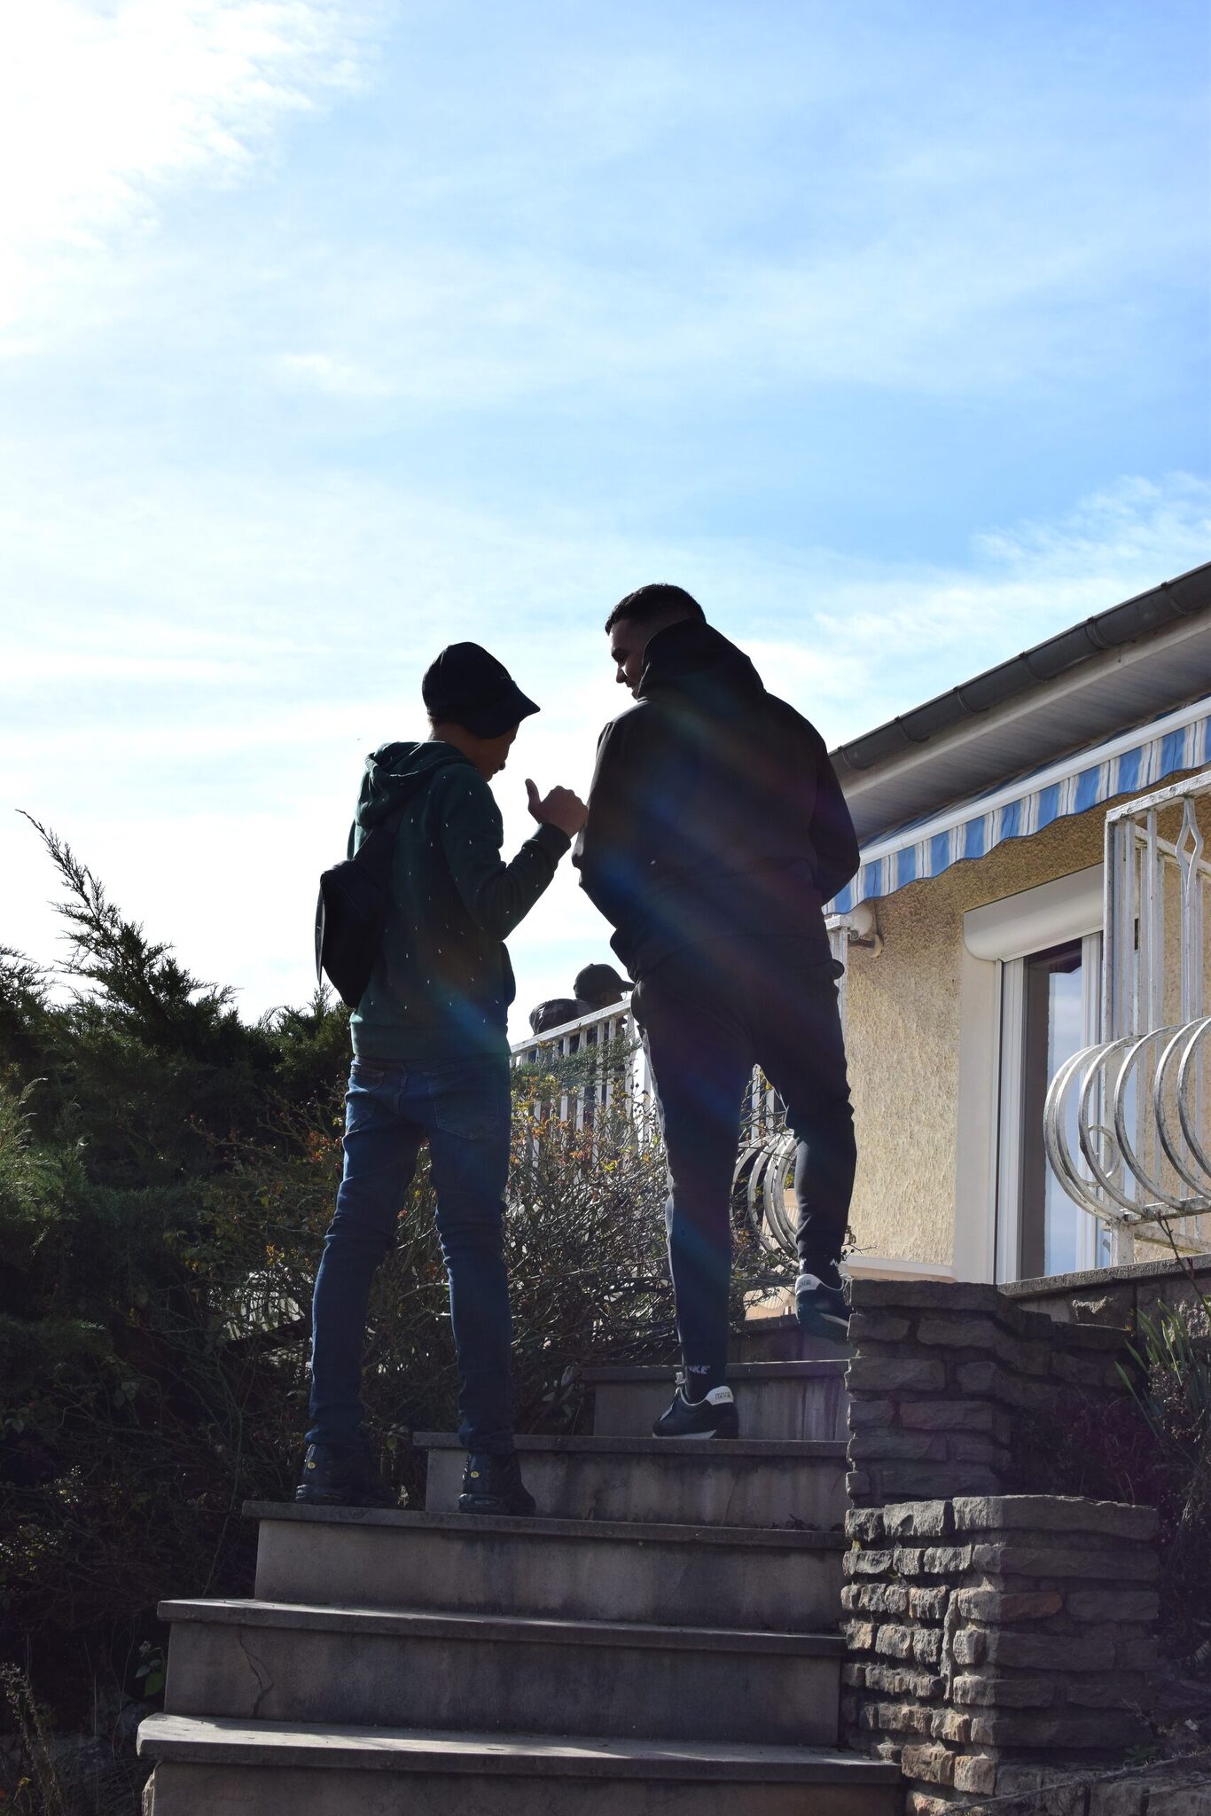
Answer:
<svg viewBox="0 0 1211 1816"><path fill-rule="evenodd" d="M296 1500L385 1505L361 1433L361 1344L370 1280L396 1239L421 1142L438 1193L450 1277L463 1513L534 1513L512 1436L510 1315L503 1258L510 1146L505 937L530 912L585 821L568 788L541 799L512 863L488 781L537 706L476 643L428 668L432 737L367 757L349 852L394 817L390 910L370 982L350 1019L345 1173L312 1304L307 1456Z"/></svg>

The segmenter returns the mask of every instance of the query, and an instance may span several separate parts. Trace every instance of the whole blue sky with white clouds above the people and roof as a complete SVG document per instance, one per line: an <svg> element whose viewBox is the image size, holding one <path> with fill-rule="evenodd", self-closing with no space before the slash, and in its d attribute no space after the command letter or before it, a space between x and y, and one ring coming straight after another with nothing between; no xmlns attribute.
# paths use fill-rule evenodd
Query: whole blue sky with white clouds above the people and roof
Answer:
<svg viewBox="0 0 1211 1816"><path fill-rule="evenodd" d="M1211 554L1202 0L0 11L0 944L25 810L241 1013L419 677L688 587L830 745ZM565 863L514 1033L608 957Z"/></svg>

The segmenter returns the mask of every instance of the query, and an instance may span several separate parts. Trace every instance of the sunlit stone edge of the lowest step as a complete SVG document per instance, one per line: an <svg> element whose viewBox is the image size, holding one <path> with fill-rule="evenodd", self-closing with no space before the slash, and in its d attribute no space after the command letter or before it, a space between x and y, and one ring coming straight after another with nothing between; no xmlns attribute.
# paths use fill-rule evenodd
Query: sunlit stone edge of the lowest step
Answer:
<svg viewBox="0 0 1211 1816"><path fill-rule="evenodd" d="M828 1747L329 1727L162 1712L142 1722L138 1751L145 1760L176 1763L354 1767L378 1772L467 1772L501 1778L882 1785L897 1783L901 1776L895 1765Z"/></svg>

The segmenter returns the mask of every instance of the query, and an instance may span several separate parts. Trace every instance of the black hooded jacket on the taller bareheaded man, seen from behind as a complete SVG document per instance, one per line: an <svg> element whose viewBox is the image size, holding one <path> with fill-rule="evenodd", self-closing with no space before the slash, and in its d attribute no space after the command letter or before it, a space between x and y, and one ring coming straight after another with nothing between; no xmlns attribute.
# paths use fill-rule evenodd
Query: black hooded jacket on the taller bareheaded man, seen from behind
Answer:
<svg viewBox="0 0 1211 1816"><path fill-rule="evenodd" d="M630 975L737 935L828 961L821 908L859 850L821 734L701 623L652 637L637 701L601 734L574 857Z"/></svg>

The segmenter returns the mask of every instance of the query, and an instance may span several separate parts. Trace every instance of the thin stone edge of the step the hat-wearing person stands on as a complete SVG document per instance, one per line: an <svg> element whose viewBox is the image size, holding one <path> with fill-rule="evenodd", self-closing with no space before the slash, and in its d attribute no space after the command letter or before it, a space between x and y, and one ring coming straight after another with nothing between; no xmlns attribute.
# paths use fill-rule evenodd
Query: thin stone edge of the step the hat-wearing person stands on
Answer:
<svg viewBox="0 0 1211 1816"><path fill-rule="evenodd" d="M412 1507L298 1507L245 1500L247 1520L300 1525L390 1525L399 1531L456 1533L463 1538L626 1540L635 1545L733 1545L744 1551L844 1551L844 1533L806 1525L657 1525L645 1520L543 1520L483 1513L425 1513Z"/></svg>

